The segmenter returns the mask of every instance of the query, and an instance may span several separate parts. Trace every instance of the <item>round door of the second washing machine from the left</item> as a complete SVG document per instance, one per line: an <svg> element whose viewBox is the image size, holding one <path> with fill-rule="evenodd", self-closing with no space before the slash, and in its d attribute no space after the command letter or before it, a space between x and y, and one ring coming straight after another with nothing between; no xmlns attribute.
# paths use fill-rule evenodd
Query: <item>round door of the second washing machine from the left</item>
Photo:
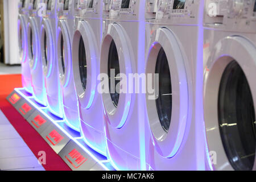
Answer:
<svg viewBox="0 0 256 182"><path fill-rule="evenodd" d="M28 42L28 58L30 68L34 70L36 68L36 64L38 64L38 56L39 56L39 31L36 27L36 22L34 17L30 17L28 19L28 28L27 28L27 42Z"/></svg>

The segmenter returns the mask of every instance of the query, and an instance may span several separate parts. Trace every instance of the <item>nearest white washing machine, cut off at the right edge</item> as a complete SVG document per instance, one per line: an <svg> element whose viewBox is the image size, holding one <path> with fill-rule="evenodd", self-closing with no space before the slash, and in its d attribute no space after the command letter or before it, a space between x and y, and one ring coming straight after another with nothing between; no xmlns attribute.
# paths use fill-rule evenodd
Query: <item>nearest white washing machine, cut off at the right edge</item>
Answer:
<svg viewBox="0 0 256 182"><path fill-rule="evenodd" d="M207 1L205 5L208 167L255 170L256 2ZM215 14L209 11L212 7L217 8Z"/></svg>

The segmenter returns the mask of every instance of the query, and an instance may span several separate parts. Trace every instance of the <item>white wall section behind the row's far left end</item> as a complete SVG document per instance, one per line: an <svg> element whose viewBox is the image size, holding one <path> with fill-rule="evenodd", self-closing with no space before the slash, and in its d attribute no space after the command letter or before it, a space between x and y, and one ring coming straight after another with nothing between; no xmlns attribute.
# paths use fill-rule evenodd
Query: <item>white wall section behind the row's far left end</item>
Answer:
<svg viewBox="0 0 256 182"><path fill-rule="evenodd" d="M20 64L18 47L18 2L3 0L5 19L5 63Z"/></svg>

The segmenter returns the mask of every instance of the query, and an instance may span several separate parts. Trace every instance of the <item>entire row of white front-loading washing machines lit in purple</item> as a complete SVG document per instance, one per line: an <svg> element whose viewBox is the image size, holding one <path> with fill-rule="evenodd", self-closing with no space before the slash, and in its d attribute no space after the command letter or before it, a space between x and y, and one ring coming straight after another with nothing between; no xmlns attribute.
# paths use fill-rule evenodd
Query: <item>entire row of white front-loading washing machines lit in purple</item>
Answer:
<svg viewBox="0 0 256 182"><path fill-rule="evenodd" d="M255 169L255 0L24 0L18 25L24 88L116 169Z"/></svg>

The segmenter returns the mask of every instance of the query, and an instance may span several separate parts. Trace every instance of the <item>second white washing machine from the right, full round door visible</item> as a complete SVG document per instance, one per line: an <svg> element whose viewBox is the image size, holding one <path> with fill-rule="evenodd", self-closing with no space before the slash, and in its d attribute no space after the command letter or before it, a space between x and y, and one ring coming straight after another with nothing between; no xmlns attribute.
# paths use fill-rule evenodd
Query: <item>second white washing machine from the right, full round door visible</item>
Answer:
<svg viewBox="0 0 256 182"><path fill-rule="evenodd" d="M147 170L205 169L203 12L204 1L146 2L145 73L156 78L144 97Z"/></svg>

